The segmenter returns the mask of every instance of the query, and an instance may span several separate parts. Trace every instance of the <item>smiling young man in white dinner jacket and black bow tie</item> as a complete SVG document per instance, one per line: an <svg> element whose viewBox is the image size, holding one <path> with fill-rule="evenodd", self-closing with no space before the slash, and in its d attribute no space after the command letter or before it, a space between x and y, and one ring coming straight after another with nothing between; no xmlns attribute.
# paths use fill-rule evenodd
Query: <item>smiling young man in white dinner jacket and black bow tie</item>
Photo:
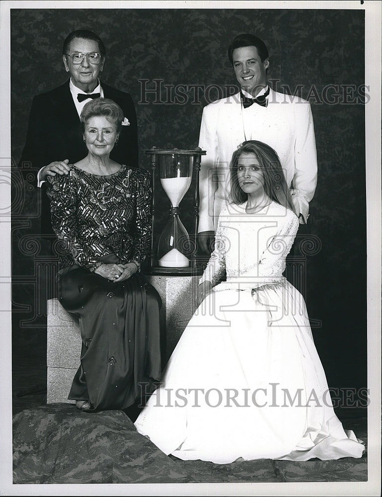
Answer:
<svg viewBox="0 0 382 497"><path fill-rule="evenodd" d="M199 147L207 151L200 171L199 242L210 252L222 206L228 198L229 162L246 140L270 145L278 154L305 224L317 183L317 157L310 104L269 87L268 50L251 34L235 37L228 50L240 92L203 110Z"/></svg>

